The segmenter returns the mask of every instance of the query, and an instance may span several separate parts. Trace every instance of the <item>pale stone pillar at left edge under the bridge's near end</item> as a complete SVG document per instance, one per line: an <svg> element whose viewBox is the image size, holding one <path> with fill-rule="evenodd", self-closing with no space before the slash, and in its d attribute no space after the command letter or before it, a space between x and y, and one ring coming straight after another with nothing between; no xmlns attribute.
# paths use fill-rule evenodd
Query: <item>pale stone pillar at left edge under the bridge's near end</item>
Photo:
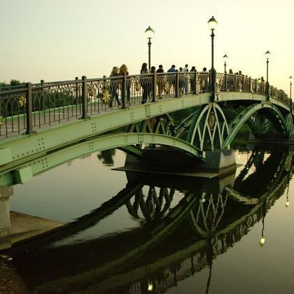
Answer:
<svg viewBox="0 0 294 294"><path fill-rule="evenodd" d="M11 247L9 197L13 188L0 186L0 250Z"/></svg>

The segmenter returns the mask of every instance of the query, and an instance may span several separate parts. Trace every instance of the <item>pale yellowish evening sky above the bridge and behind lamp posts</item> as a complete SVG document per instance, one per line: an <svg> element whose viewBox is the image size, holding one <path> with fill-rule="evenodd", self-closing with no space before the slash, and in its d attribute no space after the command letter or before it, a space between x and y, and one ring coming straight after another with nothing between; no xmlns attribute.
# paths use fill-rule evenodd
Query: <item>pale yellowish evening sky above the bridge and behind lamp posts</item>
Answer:
<svg viewBox="0 0 294 294"><path fill-rule="evenodd" d="M148 25L152 65L209 69L211 15L217 71L226 53L228 69L265 77L269 50L269 83L289 93L294 75L291 0L0 0L0 11L0 81L98 78L121 64L139 73L148 62Z"/></svg>

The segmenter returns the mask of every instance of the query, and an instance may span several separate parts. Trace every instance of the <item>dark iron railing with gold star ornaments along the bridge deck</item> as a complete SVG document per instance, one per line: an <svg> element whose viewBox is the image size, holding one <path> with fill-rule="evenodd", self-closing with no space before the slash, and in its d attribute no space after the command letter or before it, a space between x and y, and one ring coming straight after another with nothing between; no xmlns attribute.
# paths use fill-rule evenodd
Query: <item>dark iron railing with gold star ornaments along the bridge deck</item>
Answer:
<svg viewBox="0 0 294 294"><path fill-rule="evenodd" d="M160 99L211 91L209 72L151 73L67 80L8 87L0 90L0 138L30 134L45 125L87 118ZM266 94L266 83L247 76L216 74L216 91ZM269 87L269 95L291 106L285 92Z"/></svg>

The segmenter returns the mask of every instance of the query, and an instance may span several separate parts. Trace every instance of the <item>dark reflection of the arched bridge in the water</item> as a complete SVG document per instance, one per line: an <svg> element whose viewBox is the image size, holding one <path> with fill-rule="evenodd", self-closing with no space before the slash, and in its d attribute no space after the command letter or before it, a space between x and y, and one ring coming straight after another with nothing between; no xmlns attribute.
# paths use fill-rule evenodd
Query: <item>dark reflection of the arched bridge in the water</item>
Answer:
<svg viewBox="0 0 294 294"><path fill-rule="evenodd" d="M162 293L209 267L208 289L214 258L265 217L292 174L293 153L262 151L253 151L236 179L191 182L128 173L126 188L102 207L9 254L31 290L144 293L152 286ZM139 228L70 244L68 238L123 205Z"/></svg>

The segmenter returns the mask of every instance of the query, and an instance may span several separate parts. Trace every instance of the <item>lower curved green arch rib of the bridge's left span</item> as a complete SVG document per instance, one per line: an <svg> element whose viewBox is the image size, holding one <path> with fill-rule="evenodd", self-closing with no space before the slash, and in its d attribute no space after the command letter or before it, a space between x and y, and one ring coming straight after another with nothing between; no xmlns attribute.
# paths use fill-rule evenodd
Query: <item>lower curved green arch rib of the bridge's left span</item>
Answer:
<svg viewBox="0 0 294 294"><path fill-rule="evenodd" d="M15 183L22 183L29 178L29 170L31 174L36 176L42 172L57 167L64 162L69 162L75 158L80 158L84 155L103 151L110 148L118 148L122 146L129 146L135 144L158 144L165 145L171 148L176 148L192 156L204 160L205 153L200 151L195 146L186 141L169 137L164 134L148 134L148 133L124 133L124 134L111 134L101 137L95 137L81 141L78 144L71 144L59 148L52 153L42 154L39 158L28 162L22 162L20 165L9 166L8 169L2 169L0 174L0 186L11 186ZM22 170L25 168L27 172L22 178L15 180L15 169Z"/></svg>

